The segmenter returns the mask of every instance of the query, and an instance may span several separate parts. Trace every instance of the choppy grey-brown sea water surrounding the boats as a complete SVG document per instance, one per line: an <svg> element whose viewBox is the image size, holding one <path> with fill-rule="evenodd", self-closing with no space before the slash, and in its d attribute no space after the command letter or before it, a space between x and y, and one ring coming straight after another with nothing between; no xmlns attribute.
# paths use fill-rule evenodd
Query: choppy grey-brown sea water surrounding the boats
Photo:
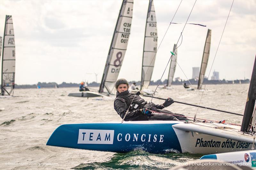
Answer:
<svg viewBox="0 0 256 170"><path fill-rule="evenodd" d="M249 84L207 85L202 106L244 113ZM150 86L149 89L154 89ZM78 88L15 89L14 96L0 99L1 169L167 169L202 155L98 152L46 146L54 129L62 124L121 121L113 100L68 97ZM202 92L197 91L201 97ZM156 96L199 104L194 91L183 86L158 90ZM149 100L149 98L145 98ZM156 104L162 100L153 99ZM168 110L194 117L197 107L174 103ZM197 118L241 124L242 116L199 108Z"/></svg>

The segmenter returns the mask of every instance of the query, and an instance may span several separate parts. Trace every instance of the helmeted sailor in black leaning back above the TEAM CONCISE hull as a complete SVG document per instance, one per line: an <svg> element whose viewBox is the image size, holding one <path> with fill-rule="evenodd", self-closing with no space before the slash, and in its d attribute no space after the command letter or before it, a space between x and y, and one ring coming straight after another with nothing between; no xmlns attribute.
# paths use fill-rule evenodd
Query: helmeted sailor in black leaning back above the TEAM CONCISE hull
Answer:
<svg viewBox="0 0 256 170"><path fill-rule="evenodd" d="M128 89L128 82L124 78L116 81L114 109L124 121L189 120L184 115L163 110L174 103L171 98L166 99L161 105L156 105L148 103L137 94L129 93Z"/></svg>

